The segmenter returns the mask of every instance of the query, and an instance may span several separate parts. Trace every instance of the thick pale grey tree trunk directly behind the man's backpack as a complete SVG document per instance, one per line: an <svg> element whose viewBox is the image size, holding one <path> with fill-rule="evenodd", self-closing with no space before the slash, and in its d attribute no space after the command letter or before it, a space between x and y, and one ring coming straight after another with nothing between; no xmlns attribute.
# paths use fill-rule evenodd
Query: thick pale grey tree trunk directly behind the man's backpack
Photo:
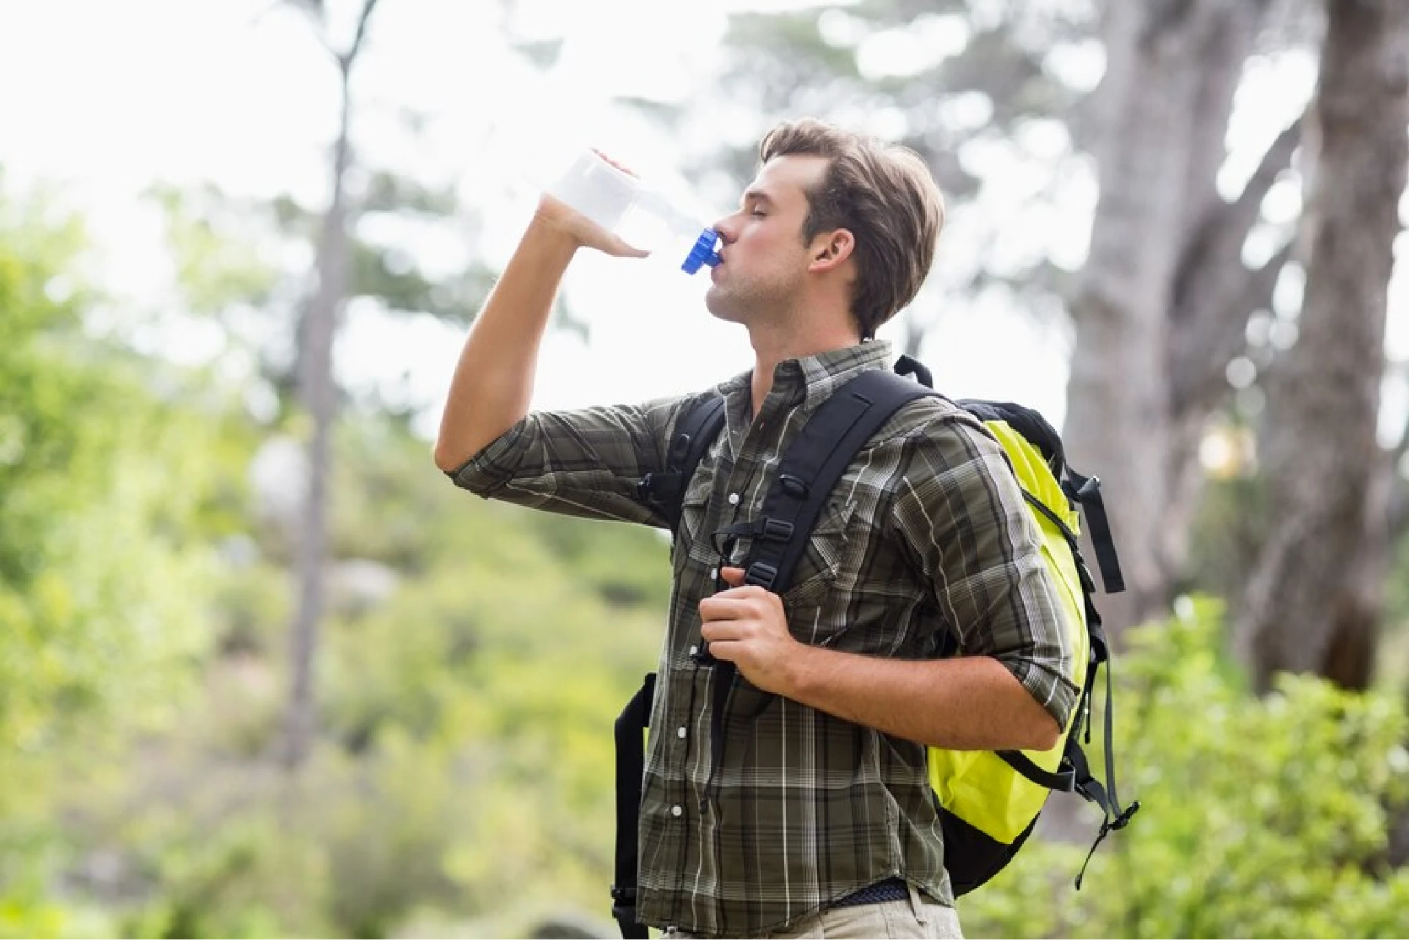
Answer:
<svg viewBox="0 0 1409 940"><path fill-rule="evenodd" d="M1186 245L1217 203L1233 93L1267 6L1107 7L1092 147L1100 200L1072 303L1064 440L1078 469L1103 478L1127 585L1102 599L1116 641L1123 627L1167 610L1182 551L1165 517L1186 489L1186 461L1174 454L1188 431L1171 409L1168 352L1171 334L1185 328L1174 319L1177 285L1191 273Z"/></svg>

